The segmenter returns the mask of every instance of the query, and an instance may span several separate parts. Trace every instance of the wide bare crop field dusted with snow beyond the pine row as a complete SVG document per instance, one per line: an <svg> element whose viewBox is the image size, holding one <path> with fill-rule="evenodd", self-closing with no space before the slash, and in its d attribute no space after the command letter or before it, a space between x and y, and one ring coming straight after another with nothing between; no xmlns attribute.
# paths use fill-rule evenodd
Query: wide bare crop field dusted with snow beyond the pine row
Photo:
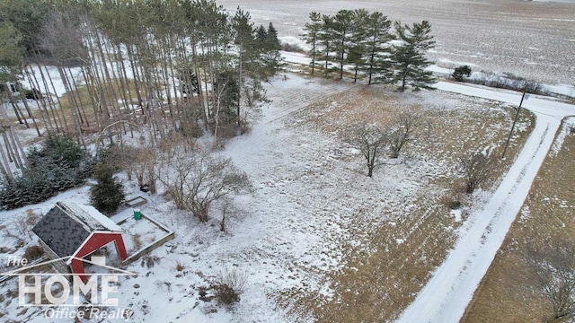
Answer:
<svg viewBox="0 0 575 323"><path fill-rule="evenodd" d="M454 68L509 72L542 83L573 84L575 2L520 0L219 0L234 13L252 14L256 25L273 22L279 38L297 43L310 12L334 14L366 8L405 23L427 20L437 41L429 57Z"/></svg>

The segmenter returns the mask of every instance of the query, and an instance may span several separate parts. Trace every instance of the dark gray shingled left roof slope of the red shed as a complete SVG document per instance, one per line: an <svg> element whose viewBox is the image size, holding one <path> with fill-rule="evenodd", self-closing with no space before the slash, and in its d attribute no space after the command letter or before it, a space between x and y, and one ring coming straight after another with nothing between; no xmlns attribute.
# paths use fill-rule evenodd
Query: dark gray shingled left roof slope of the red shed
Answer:
<svg viewBox="0 0 575 323"><path fill-rule="evenodd" d="M32 229L58 257L72 256L90 231L59 207L54 206Z"/></svg>

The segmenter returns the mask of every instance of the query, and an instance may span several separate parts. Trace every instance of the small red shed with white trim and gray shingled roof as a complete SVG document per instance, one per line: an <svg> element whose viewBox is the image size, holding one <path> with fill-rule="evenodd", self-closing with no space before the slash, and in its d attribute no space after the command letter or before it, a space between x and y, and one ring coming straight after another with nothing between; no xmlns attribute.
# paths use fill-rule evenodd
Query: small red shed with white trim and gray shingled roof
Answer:
<svg viewBox="0 0 575 323"><path fill-rule="evenodd" d="M40 238L40 245L49 258L66 258L55 262L64 273L79 275L85 282L82 258L97 249L114 243L119 258L128 258L122 229L91 205L60 201L40 219L32 231Z"/></svg>

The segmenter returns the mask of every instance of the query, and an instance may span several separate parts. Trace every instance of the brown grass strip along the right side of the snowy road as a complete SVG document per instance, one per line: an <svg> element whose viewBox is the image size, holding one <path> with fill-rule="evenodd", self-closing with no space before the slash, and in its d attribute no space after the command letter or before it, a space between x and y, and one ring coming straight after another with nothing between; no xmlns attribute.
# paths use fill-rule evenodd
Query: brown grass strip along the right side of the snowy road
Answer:
<svg viewBox="0 0 575 323"><path fill-rule="evenodd" d="M462 322L542 322L550 303L530 286L537 279L521 255L548 237L575 239L575 135L547 156L519 218L493 260Z"/></svg>

